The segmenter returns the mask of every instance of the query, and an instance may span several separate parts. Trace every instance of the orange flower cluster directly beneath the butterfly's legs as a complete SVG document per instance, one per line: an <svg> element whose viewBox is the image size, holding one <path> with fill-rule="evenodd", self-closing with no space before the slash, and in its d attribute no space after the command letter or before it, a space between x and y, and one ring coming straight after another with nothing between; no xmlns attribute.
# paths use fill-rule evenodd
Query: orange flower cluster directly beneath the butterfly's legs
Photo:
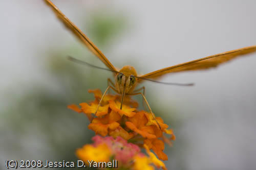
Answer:
<svg viewBox="0 0 256 170"><path fill-rule="evenodd" d="M153 150L159 159L168 160L167 155L163 152L164 142L171 144L171 141L175 140L175 135L172 129L167 129L168 125L163 123L161 117L155 119L152 113L144 110L138 111L138 103L132 100L130 96L125 96L122 109L120 109L119 94L106 94L96 115L93 115L102 98L102 92L99 89L89 90L89 92L94 93L94 101L80 103L80 107L77 105L68 106L74 111L86 114L89 120L92 120L88 126L89 129L101 136L122 137L141 148L145 148L148 152ZM97 117L93 118L92 115ZM167 138L164 134L170 135L170 137Z"/></svg>

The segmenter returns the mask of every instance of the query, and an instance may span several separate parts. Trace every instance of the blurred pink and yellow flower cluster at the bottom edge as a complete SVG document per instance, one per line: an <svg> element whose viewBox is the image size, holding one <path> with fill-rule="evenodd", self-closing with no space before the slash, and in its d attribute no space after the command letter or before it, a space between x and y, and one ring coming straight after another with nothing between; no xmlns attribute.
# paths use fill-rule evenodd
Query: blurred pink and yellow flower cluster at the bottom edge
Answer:
<svg viewBox="0 0 256 170"><path fill-rule="evenodd" d="M112 136L96 135L92 140L93 144L86 144L76 151L77 157L87 164L90 163L88 160L94 160L95 163L118 160L118 167L124 169L154 169L153 165L166 169L164 163L152 152L146 150L145 155L140 152L138 145L128 143L119 136L114 139Z"/></svg>

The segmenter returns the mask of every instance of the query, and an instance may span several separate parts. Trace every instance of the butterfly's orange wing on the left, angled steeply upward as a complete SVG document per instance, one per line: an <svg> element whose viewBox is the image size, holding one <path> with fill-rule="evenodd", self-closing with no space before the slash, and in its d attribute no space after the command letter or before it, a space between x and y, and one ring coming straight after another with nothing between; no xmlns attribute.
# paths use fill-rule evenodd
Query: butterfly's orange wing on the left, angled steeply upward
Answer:
<svg viewBox="0 0 256 170"><path fill-rule="evenodd" d="M111 64L111 62L104 56L104 54L99 50L99 48L94 45L94 43L78 29L73 22L69 20L50 0L45 0L47 5L49 5L55 12L57 17L64 23L64 25L72 31L82 42L85 44L89 50L94 53L108 68L116 70L116 68Z"/></svg>

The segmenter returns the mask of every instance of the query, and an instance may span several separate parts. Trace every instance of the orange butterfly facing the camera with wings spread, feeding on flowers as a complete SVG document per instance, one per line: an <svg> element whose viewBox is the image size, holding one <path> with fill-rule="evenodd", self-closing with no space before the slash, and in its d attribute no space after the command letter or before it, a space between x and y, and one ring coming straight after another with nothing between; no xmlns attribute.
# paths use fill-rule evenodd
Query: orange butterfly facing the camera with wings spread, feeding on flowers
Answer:
<svg viewBox="0 0 256 170"><path fill-rule="evenodd" d="M98 66L94 66L87 62L77 60L73 57L69 57L69 59L72 61L78 62L78 63L83 63L86 65L90 65L92 67L106 69L106 70L110 70L110 71L114 72L115 83L113 83L110 79L108 79L108 83L110 83L111 85L109 85L108 88L106 88L105 92L103 93L101 100L99 102L98 108L101 104L101 101L102 101L104 95L106 94L106 92L109 89L113 89L115 92L121 94L120 109L122 109L124 95L140 94L140 95L142 95L143 102L146 103L148 109L150 110L154 119L156 120L155 115L153 114L152 109L145 98L145 95L144 95L145 87L143 86L142 88L135 90L135 87L139 83L141 83L144 80L158 82L158 81L156 81L156 79L160 78L161 76L163 76L165 74L182 72L182 71L203 70L203 69L209 69L212 67L217 67L219 64L225 63L234 58L237 58L237 57L243 56L245 54L249 54L249 53L256 51L256 45L248 46L248 47L240 48L237 50L228 51L228 52L212 55L209 57L181 63L178 65L162 68L162 69L150 72L148 74L139 76L139 75L137 75L136 69L133 66L126 65L126 66L123 66L121 69L117 69L116 67L114 67L112 65L112 63L105 57L105 55L99 50L99 48L84 33L82 33L82 31L79 28L77 28L74 25L74 23L71 20L69 20L69 18L67 18L50 0L45 0L45 2L52 8L52 10L55 12L57 17L65 24L65 26L70 31L72 31L74 33L74 35L76 35L77 38L80 39L82 41L82 43L84 45L86 45L89 48L89 50L93 54L95 54L95 56L98 57L108 68L101 68ZM163 82L160 82L160 83L163 83ZM184 86L193 85L193 84L179 84L179 83L163 83L163 84L184 85ZM143 90L143 93L140 92L141 90ZM98 108L95 113L97 113ZM157 122L157 120L156 120L156 122ZM157 124L158 124L158 122L157 122ZM160 128L160 126L159 126L159 128Z"/></svg>

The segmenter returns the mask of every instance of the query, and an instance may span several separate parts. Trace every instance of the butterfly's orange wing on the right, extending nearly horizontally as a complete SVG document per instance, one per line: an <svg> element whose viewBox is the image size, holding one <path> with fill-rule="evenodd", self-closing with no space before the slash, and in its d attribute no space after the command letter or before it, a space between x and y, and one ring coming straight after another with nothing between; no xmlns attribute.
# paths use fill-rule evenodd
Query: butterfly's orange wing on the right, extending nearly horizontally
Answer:
<svg viewBox="0 0 256 170"><path fill-rule="evenodd" d="M191 71L191 70L200 70L200 69L217 67L221 63L227 62L236 57L240 57L255 51L256 51L256 45L248 46L248 47L240 48L238 50L224 52L224 53L216 54L213 56L201 58L198 60L159 69L159 70L150 72L148 74L145 74L143 76L140 76L140 78L155 79L163 76L164 74L171 73L171 72ZM143 79L139 79L139 81L142 81L142 80Z"/></svg>

